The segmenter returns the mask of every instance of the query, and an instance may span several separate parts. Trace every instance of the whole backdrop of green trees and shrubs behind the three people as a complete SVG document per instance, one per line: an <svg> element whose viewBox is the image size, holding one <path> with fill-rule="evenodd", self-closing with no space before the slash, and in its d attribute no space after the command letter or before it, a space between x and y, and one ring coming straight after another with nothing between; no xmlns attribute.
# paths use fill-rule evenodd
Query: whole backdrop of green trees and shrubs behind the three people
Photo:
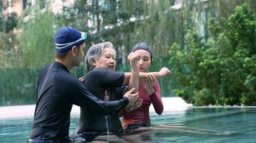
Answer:
<svg viewBox="0 0 256 143"><path fill-rule="evenodd" d="M55 31L67 25L89 34L87 49L111 41L118 71L129 71L127 54L147 41L151 70L167 66L173 72L159 80L163 97L177 95L196 106L255 105L256 1L175 2L76 0L53 14L47 1L36 1L19 19L1 15L0 105L35 104L37 74L54 60ZM71 73L81 77L83 69Z"/></svg>

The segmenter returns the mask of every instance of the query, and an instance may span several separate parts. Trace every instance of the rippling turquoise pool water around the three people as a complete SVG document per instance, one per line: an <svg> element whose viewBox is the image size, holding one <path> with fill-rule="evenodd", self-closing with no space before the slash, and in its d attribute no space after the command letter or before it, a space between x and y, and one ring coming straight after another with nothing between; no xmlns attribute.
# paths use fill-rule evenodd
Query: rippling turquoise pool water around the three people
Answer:
<svg viewBox="0 0 256 143"><path fill-rule="evenodd" d="M154 130L118 137L105 136L106 142L255 142L256 108L191 108L186 112L151 114ZM71 118L70 134L78 124ZM27 142L32 117L0 120L0 142Z"/></svg>

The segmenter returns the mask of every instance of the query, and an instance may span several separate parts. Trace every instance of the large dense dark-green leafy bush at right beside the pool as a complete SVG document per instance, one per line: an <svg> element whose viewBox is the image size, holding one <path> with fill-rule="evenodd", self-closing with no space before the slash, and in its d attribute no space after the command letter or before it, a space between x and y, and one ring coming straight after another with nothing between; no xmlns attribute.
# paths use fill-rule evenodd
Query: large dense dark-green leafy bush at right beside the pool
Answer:
<svg viewBox="0 0 256 143"><path fill-rule="evenodd" d="M244 4L222 23L209 21L206 42L191 29L186 49L170 47L170 63L176 65L173 71L180 84L175 92L198 106L255 104L255 15Z"/></svg>

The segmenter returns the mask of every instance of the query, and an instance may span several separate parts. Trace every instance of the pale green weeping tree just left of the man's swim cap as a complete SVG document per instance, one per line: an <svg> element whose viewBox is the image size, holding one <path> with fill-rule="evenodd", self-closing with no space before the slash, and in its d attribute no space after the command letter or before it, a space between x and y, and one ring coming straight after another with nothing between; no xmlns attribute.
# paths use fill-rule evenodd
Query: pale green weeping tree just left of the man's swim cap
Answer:
<svg viewBox="0 0 256 143"><path fill-rule="evenodd" d="M34 14L29 21L21 21L23 29L19 39L22 51L21 67L42 68L54 59L54 31L58 29L58 23L51 11L40 11L35 6Z"/></svg>

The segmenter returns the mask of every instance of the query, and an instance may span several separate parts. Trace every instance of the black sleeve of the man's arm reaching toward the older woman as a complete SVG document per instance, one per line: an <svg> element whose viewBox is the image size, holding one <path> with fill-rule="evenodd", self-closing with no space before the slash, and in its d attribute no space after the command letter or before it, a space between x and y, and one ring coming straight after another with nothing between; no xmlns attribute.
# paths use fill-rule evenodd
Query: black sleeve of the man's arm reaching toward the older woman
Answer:
<svg viewBox="0 0 256 143"><path fill-rule="evenodd" d="M70 90L72 89L72 93L68 94L72 96L68 96L68 99L72 101L73 104L98 114L114 113L119 109L126 107L129 102L129 99L126 97L116 101L104 102L101 99L96 98L91 92L88 92L86 87L79 80L72 85L73 86L69 87Z"/></svg>

